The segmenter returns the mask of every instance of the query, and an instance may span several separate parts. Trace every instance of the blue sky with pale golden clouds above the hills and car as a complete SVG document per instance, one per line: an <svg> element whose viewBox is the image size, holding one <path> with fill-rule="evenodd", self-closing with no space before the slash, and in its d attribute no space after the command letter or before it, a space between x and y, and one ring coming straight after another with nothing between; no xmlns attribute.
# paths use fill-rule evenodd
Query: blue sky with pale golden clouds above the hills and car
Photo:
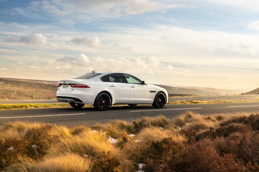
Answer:
<svg viewBox="0 0 259 172"><path fill-rule="evenodd" d="M0 77L259 87L258 0L0 0Z"/></svg>

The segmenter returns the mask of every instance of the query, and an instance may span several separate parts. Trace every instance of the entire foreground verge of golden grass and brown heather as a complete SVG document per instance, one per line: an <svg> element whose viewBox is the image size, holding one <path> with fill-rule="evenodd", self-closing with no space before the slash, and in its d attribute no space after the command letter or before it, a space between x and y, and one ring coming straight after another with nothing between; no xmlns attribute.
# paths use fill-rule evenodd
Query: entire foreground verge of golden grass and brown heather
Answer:
<svg viewBox="0 0 259 172"><path fill-rule="evenodd" d="M258 171L259 114L0 126L2 171ZM144 166L142 164L145 164Z"/></svg>

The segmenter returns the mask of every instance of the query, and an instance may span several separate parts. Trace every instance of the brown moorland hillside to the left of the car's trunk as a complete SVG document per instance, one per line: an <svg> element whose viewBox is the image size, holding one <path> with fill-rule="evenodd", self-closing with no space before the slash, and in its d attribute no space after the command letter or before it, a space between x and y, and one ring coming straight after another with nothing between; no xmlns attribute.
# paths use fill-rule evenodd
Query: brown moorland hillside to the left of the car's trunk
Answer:
<svg viewBox="0 0 259 172"><path fill-rule="evenodd" d="M55 99L58 82L0 78L0 99Z"/></svg>

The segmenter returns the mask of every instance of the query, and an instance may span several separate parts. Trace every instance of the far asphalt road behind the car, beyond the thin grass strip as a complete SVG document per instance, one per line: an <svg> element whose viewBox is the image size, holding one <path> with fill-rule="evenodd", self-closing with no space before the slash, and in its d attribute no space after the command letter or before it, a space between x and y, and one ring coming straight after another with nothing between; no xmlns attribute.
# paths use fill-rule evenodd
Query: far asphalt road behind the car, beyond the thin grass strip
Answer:
<svg viewBox="0 0 259 172"><path fill-rule="evenodd" d="M252 100L249 98L259 95L237 95L237 96L198 96L198 97L170 97L169 101L177 100ZM57 100L0 100L0 104L23 104L23 103L63 103Z"/></svg>

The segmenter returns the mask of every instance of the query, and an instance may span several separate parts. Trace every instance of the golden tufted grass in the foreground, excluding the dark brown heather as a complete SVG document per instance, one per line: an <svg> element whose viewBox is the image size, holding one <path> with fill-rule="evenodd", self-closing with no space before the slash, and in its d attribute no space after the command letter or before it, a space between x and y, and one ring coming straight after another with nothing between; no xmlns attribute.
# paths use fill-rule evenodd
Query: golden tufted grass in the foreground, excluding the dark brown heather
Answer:
<svg viewBox="0 0 259 172"><path fill-rule="evenodd" d="M138 170L137 163L143 163L146 157L150 157L150 146L163 146L165 138L170 138L175 153L177 149L184 149L188 137L182 133L183 129L194 129L200 133L210 130L210 127L216 129L221 122L230 118L248 115L200 115L187 111L172 119L160 115L143 117L134 123L114 120L106 124L73 128L36 122L8 122L0 125L0 140L18 139L26 141L27 146L36 145L37 148L27 147L29 152L19 154L18 161L10 163L3 170L135 171ZM132 133L136 136L130 137ZM109 136L119 142L109 143ZM161 149L158 147L158 150Z"/></svg>

